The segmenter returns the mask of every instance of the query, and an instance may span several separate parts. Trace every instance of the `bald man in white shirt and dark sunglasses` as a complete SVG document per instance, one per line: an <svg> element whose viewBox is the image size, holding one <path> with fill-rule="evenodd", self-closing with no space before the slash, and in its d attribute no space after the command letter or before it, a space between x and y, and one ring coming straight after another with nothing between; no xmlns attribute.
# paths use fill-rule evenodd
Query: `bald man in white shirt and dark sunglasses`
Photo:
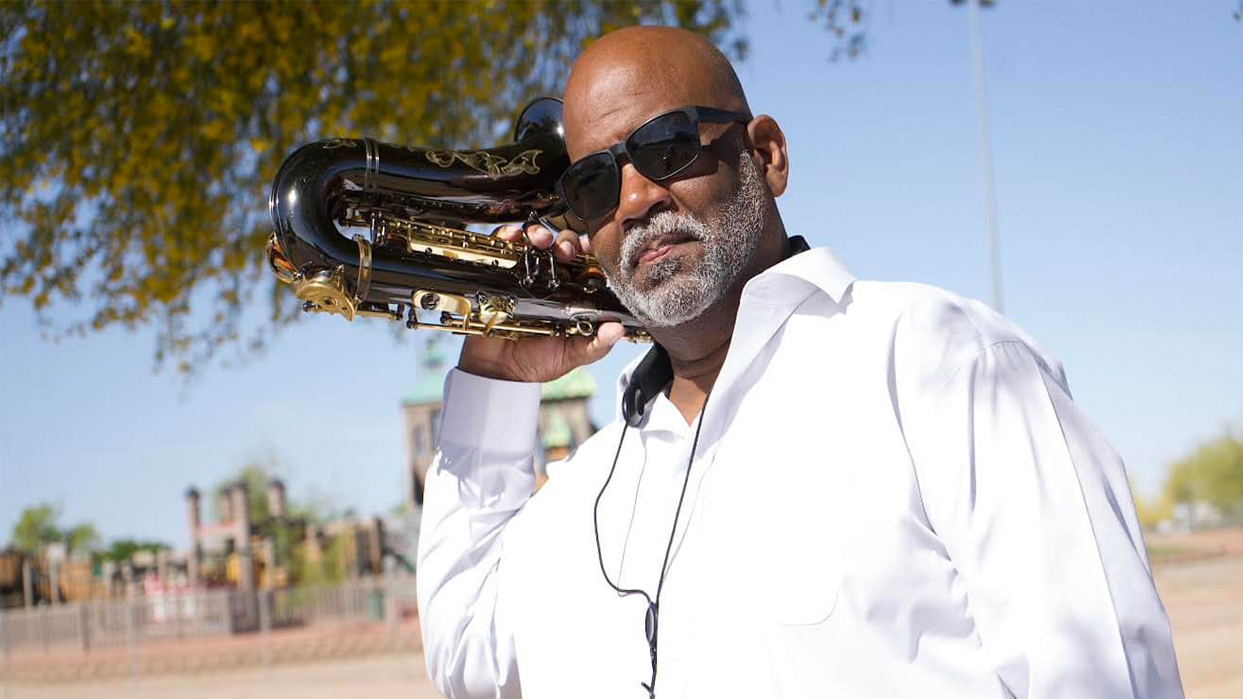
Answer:
<svg viewBox="0 0 1243 699"><path fill-rule="evenodd" d="M541 381L619 339L471 338L428 476L419 602L452 697L1175 697L1122 464L986 307L787 236L789 165L728 61L604 36L562 194L658 343L534 497Z"/></svg>

